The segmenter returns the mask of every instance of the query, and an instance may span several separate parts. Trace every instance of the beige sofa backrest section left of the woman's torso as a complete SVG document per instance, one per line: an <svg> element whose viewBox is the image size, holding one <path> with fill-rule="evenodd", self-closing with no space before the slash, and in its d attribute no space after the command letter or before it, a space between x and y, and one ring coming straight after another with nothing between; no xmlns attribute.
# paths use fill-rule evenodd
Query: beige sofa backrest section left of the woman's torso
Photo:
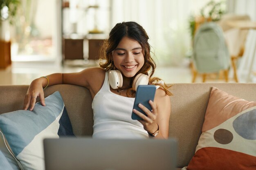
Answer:
<svg viewBox="0 0 256 170"><path fill-rule="evenodd" d="M0 114L23 109L28 85L0 86ZM87 88L60 84L45 89L45 97L59 91L77 136L92 135L92 97Z"/></svg>

